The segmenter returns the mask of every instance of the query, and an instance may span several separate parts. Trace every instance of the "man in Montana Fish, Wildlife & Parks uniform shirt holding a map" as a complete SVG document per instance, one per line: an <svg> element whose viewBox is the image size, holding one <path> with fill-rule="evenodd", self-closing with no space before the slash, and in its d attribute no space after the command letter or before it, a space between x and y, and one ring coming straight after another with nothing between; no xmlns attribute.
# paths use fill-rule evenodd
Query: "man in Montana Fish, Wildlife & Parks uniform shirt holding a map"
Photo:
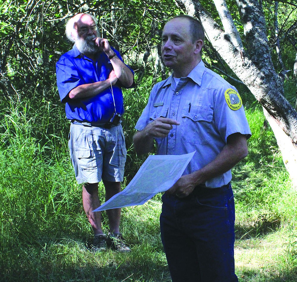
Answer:
<svg viewBox="0 0 297 282"><path fill-rule="evenodd" d="M162 196L161 239L172 281L234 282L231 168L247 156L251 131L236 89L202 62L203 40L195 18L165 24L162 57L173 74L151 90L134 146L148 153L155 140L159 155L195 151Z"/></svg>

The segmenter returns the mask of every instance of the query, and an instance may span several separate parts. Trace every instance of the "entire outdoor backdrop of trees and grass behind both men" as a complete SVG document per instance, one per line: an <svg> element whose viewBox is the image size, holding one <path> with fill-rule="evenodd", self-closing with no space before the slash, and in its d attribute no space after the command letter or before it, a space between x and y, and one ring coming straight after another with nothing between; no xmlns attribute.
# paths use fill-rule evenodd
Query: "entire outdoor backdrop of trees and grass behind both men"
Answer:
<svg viewBox="0 0 297 282"><path fill-rule="evenodd" d="M136 88L123 90L122 188L146 158L133 148L135 123L151 87L170 74L160 54L162 27L180 13L201 20L203 61L238 89L252 131L249 155L233 168L236 274L240 282L297 281L297 198L289 179L296 183L295 2L0 0L0 281L171 281L161 194L123 209L128 255L88 250L93 235L55 75L72 48L65 23L78 12L97 18L135 71ZM105 213L102 228L108 231Z"/></svg>

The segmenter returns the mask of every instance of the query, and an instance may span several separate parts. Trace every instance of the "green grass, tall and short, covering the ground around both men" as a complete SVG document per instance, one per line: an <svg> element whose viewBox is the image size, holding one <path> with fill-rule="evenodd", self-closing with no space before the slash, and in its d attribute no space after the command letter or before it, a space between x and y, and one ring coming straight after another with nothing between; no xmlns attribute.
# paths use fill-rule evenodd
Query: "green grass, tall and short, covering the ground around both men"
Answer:
<svg viewBox="0 0 297 282"><path fill-rule="evenodd" d="M124 184L145 158L132 147L145 88L129 96L126 108ZM68 157L64 109L46 100L2 101L0 116L0 281L171 281L159 194L122 210L121 230L132 252L90 253L92 232ZM249 156L233 169L236 273L242 282L297 281L296 190L261 109L252 105L247 117ZM107 231L105 213L102 224Z"/></svg>

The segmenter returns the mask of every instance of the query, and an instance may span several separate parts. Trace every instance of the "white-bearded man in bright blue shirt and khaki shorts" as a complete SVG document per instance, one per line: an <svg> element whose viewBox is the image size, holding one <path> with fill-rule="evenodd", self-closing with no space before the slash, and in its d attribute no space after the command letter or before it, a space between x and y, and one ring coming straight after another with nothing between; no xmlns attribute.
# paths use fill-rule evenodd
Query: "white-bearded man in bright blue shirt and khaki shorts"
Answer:
<svg viewBox="0 0 297 282"><path fill-rule="evenodd" d="M94 231L92 250L111 247L129 252L119 231L121 209L107 211L109 234L102 230L98 183L105 186L105 200L121 191L127 150L121 115L121 87L134 85L134 73L105 38L98 37L93 16L77 14L66 24L74 42L72 50L56 64L57 85L67 118L71 121L69 150L75 177L83 183L83 208Z"/></svg>

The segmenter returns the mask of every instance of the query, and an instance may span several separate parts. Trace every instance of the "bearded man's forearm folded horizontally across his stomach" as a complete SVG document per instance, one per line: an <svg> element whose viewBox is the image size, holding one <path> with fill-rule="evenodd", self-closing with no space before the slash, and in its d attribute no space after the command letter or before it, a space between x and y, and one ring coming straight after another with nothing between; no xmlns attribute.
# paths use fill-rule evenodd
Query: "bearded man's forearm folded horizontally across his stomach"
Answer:
<svg viewBox="0 0 297 282"><path fill-rule="evenodd" d="M110 80L97 81L90 84L82 84L69 92L70 99L81 99L96 96L110 86Z"/></svg>

